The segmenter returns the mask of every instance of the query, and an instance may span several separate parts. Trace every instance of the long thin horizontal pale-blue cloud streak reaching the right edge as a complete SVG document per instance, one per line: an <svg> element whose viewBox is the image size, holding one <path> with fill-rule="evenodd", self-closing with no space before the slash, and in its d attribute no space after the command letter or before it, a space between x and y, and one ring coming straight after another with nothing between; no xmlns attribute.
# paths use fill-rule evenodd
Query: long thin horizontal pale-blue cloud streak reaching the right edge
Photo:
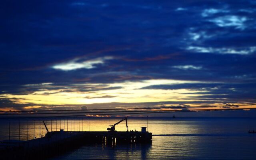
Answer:
<svg viewBox="0 0 256 160"><path fill-rule="evenodd" d="M189 46L187 50L201 53L219 53L219 54L251 54L256 51L256 46L248 48L212 48Z"/></svg>

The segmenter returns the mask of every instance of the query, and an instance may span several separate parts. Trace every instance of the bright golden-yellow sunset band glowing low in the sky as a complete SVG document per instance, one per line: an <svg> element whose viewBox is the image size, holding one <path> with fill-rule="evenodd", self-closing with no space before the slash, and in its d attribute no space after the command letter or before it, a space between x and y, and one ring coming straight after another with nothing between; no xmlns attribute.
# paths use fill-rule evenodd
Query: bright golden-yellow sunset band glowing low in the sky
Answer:
<svg viewBox="0 0 256 160"><path fill-rule="evenodd" d="M20 103L42 103L42 104L92 104L109 102L159 102L159 101L192 101L187 99L189 96L198 96L195 92L204 92L197 90L147 90L140 89L150 85L157 84L182 84L190 81L179 80L145 80L142 82L124 82L108 84L108 87L120 86L120 89L102 90L97 92L65 92L65 90L43 90L36 91L27 95L10 95L8 98L18 98ZM191 83L191 82L190 82ZM53 84L54 85L54 84ZM98 86L102 84L80 84L80 86ZM72 88L71 88L72 89ZM47 93L47 94L46 94ZM186 94L183 94L186 93ZM191 93L191 94L190 94ZM102 98L101 98L102 97ZM27 107L28 108L28 107Z"/></svg>

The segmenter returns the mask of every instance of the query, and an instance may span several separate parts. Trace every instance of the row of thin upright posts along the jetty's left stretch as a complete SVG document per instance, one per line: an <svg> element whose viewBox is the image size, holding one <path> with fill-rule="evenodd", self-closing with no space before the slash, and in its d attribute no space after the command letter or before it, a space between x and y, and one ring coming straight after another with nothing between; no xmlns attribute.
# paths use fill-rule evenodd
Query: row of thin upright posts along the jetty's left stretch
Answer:
<svg viewBox="0 0 256 160"><path fill-rule="evenodd" d="M90 118L15 118L0 120L1 140L32 140L44 137L47 133L43 124L45 122L49 132L68 131L82 132L90 130Z"/></svg>

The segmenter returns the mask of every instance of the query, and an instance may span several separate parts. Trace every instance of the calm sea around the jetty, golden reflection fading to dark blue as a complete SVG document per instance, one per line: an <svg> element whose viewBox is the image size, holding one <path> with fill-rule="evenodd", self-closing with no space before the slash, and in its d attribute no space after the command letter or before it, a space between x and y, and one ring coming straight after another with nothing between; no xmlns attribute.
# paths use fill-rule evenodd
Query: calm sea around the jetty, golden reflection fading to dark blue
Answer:
<svg viewBox="0 0 256 160"><path fill-rule="evenodd" d="M121 119L121 117L110 118L110 120L108 118L90 118L90 131L105 131L109 121L110 124L114 124ZM35 121L35 136L37 138L40 134L45 134L43 124L39 123L41 120ZM12 120L10 124L10 137L17 139L18 121ZM8 139L9 121L1 120L0 125L1 140ZM49 130L59 130L60 127L63 129L64 125L65 130L89 130L88 118L83 120L68 118L62 119L61 122L60 119L47 119ZM29 128L28 135L27 126ZM147 126L146 117L130 117L128 126L129 130L140 131L141 126ZM256 118L149 117L148 131L154 135L152 144L84 145L52 159L256 159L256 134L248 134L248 130L252 129L256 130ZM118 124L116 130L125 131L125 122ZM27 137L33 138L34 120L20 120L20 133L22 140L26 140Z"/></svg>

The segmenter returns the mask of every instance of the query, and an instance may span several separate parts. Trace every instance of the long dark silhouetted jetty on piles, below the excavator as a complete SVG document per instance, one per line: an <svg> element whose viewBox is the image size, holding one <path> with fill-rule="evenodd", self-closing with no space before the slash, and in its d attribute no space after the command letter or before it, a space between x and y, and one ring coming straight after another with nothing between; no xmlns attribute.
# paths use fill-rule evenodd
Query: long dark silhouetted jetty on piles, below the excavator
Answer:
<svg viewBox="0 0 256 160"><path fill-rule="evenodd" d="M149 132L48 132L45 137L27 141L5 140L0 142L0 154L5 160L45 159L78 148L84 144L151 143Z"/></svg>

